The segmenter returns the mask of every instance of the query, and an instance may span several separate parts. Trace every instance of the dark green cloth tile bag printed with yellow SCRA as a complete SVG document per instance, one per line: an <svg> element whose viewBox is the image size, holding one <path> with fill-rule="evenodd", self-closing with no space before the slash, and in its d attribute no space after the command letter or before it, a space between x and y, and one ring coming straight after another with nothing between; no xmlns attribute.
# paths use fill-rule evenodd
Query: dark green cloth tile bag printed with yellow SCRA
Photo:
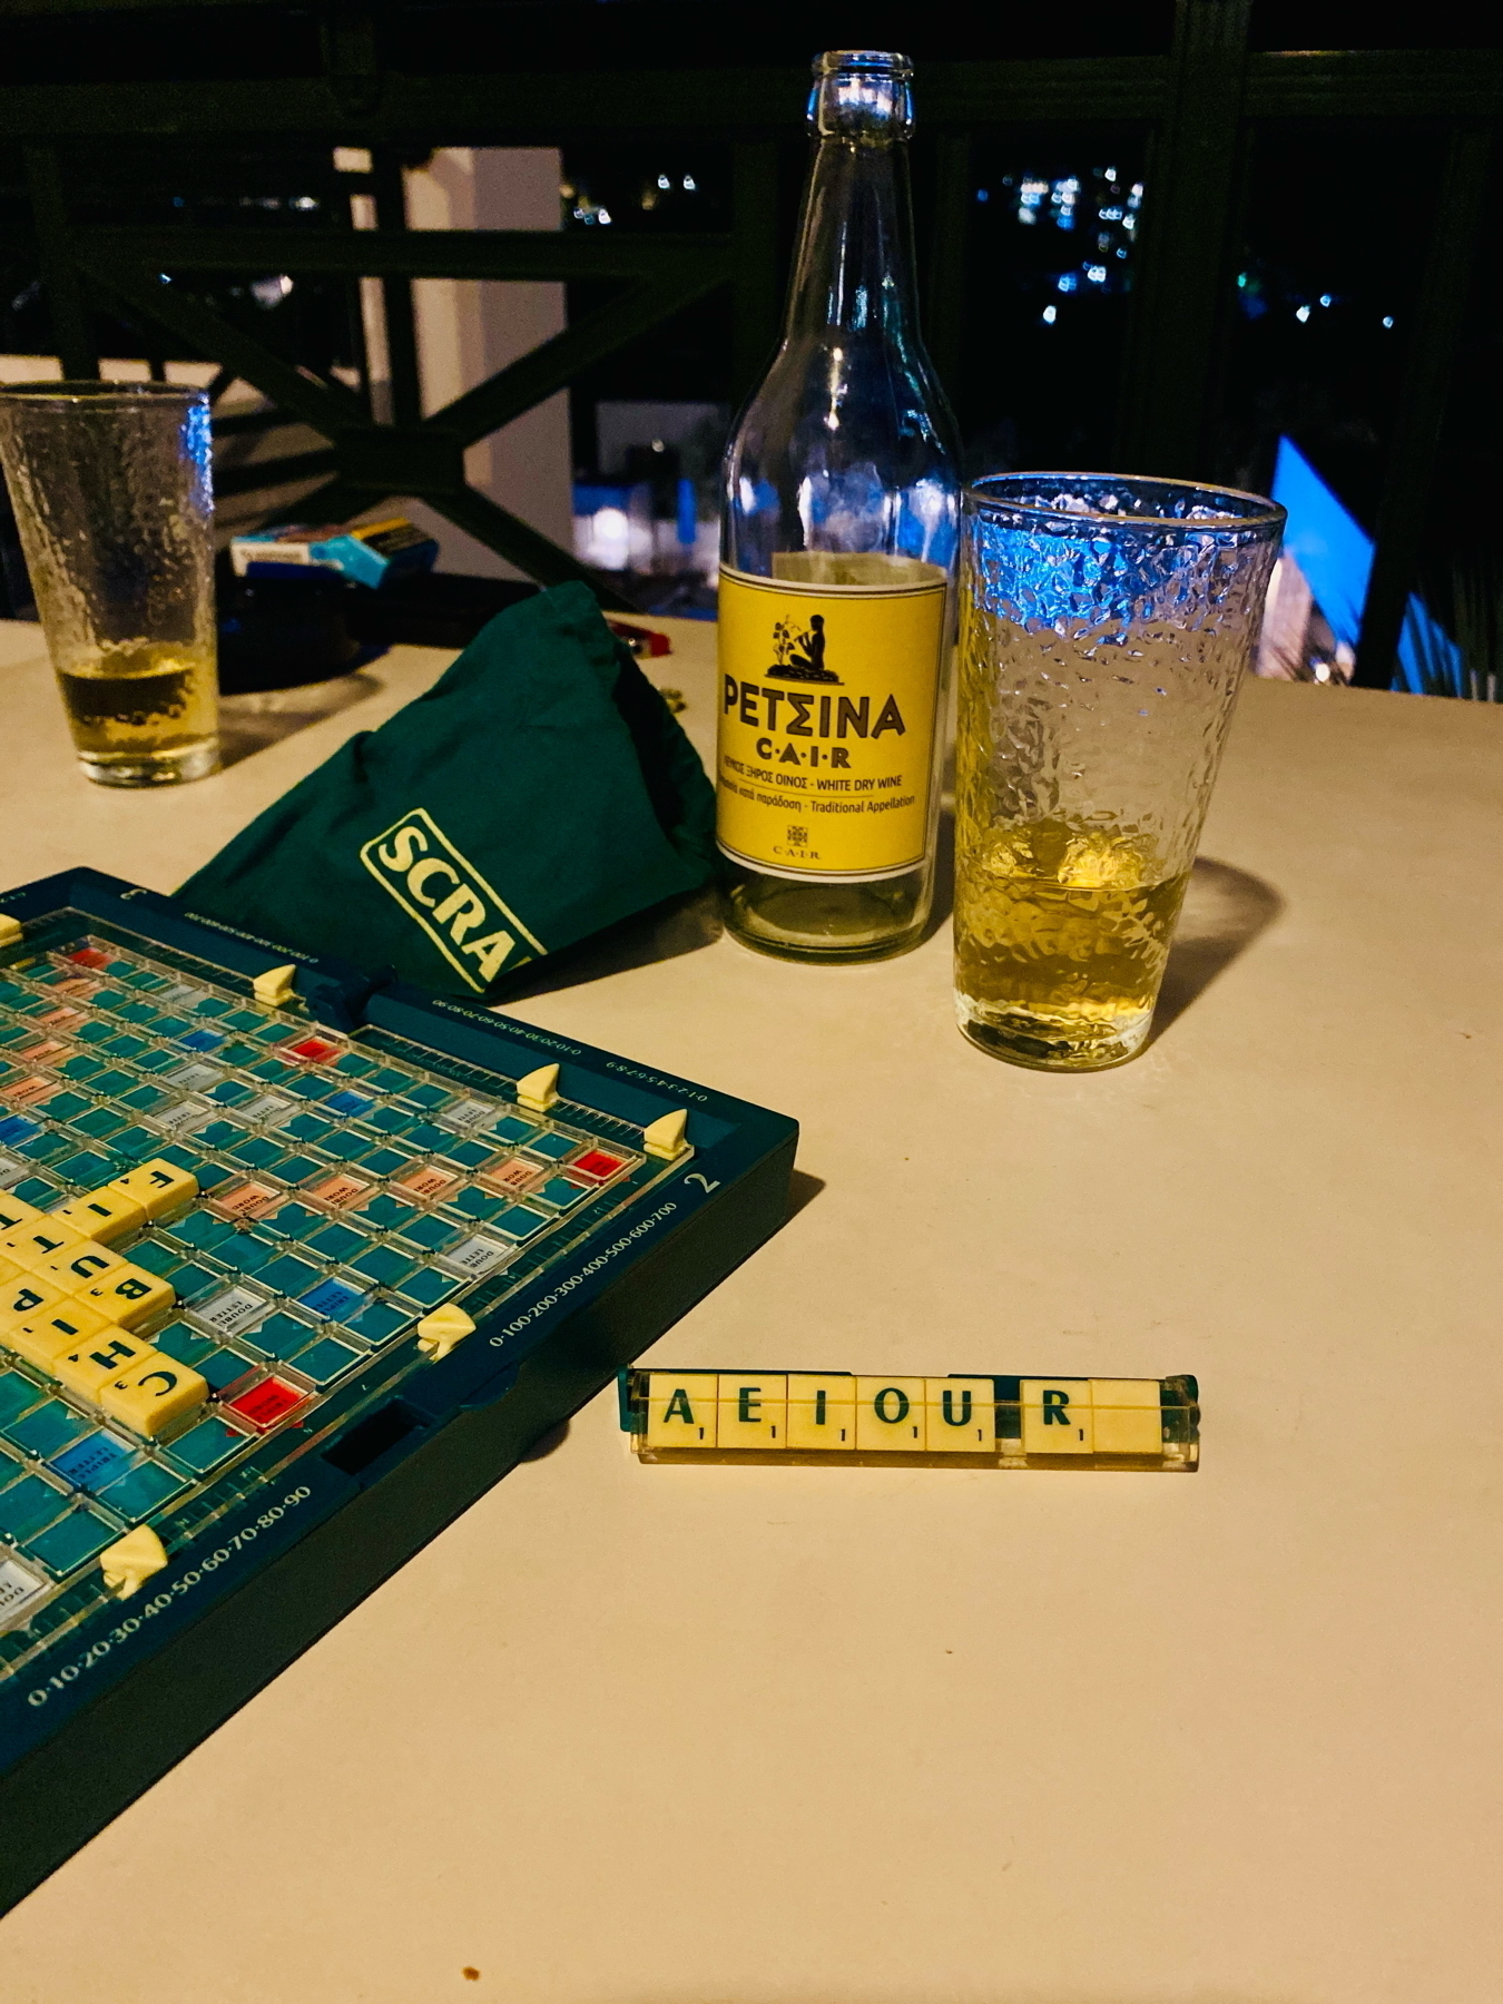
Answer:
<svg viewBox="0 0 1503 2004"><path fill-rule="evenodd" d="M495 617L178 890L202 918L367 974L485 996L697 890L715 796L585 585Z"/></svg>

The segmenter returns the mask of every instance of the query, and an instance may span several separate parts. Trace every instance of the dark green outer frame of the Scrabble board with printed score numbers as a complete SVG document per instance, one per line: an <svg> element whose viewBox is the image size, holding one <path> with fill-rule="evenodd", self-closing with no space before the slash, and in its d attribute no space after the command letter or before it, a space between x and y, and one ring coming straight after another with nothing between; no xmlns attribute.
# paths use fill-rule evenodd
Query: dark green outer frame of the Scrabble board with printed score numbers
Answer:
<svg viewBox="0 0 1503 2004"><path fill-rule="evenodd" d="M409 1331L377 1347L369 1371L315 1393L289 1421L307 1437L297 1455L281 1465L273 1457L265 1481L246 1477L242 1501L220 1499L202 1535L174 1541L168 1523L168 1563L138 1593L100 1599L90 1579L88 1605L42 1629L20 1673L0 1663L0 1912L770 1238L788 1214L798 1142L784 1114L475 1004L234 934L94 870L0 894L4 918L18 920L24 938L0 948L0 982L8 968L92 940L343 1052L421 1050L427 1072L455 1090L515 1100L519 1078L557 1062L549 1118L601 1146L631 1150L635 1140L633 1160L651 1174L639 1190L621 1184L613 1206L603 1196L587 1204L579 1230L555 1234L555 1255L467 1287L459 1305L475 1331L449 1355L419 1355ZM255 1004L255 978L281 964L295 966L293 998L281 1010ZM653 1164L641 1130L677 1108L687 1110L685 1148ZM58 1194L82 1188L64 1178ZM212 1206L212 1190L202 1200ZM603 1214L591 1224L591 1212ZM283 1377L297 1381L297 1369ZM0 1559L8 1551L0 1539Z"/></svg>

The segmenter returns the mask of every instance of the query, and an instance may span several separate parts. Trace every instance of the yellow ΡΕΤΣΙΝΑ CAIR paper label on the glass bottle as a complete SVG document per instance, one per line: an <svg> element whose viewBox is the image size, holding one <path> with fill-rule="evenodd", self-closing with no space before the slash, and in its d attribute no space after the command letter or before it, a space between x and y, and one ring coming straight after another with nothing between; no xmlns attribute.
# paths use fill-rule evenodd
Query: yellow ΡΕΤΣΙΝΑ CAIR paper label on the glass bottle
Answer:
<svg viewBox="0 0 1503 2004"><path fill-rule="evenodd" d="M924 860L946 577L918 557L774 557L719 573L717 840L788 878Z"/></svg>

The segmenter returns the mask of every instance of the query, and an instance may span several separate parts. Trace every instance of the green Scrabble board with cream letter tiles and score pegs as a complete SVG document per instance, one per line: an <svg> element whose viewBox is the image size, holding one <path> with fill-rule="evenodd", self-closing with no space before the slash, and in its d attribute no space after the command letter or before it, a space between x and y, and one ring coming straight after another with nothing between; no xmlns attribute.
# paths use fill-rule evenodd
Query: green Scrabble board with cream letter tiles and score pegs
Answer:
<svg viewBox="0 0 1503 2004"><path fill-rule="evenodd" d="M794 1144L96 872L0 894L0 1908L774 1232Z"/></svg>

